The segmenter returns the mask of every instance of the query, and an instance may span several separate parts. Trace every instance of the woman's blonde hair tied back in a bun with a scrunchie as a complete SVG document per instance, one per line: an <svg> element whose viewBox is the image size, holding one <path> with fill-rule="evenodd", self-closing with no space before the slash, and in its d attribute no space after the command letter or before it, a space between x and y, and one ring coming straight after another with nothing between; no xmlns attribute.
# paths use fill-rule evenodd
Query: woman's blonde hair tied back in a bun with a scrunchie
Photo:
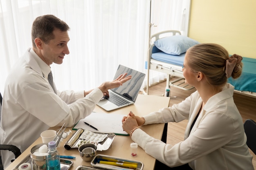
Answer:
<svg viewBox="0 0 256 170"><path fill-rule="evenodd" d="M223 86L227 83L226 60L229 59L227 50L213 43L197 44L186 52L188 64L192 71L202 72L213 86ZM238 78L242 73L243 63L240 63L237 72L232 71L231 77Z"/></svg>

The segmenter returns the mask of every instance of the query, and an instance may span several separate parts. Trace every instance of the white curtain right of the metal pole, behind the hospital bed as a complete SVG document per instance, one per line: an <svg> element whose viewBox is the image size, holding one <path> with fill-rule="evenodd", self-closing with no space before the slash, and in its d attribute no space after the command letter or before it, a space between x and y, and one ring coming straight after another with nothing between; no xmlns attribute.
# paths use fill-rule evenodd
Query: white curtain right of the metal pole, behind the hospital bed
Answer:
<svg viewBox="0 0 256 170"><path fill-rule="evenodd" d="M179 30L188 35L191 0L152 0L150 35L165 31ZM150 42L152 43L152 42ZM149 85L166 79L166 74L150 70Z"/></svg>

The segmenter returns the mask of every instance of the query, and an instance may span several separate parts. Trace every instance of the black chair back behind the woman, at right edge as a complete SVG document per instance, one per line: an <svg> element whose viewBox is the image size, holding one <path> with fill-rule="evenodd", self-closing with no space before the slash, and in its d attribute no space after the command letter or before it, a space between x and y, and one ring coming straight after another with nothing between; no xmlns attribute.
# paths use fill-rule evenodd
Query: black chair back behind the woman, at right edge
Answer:
<svg viewBox="0 0 256 170"><path fill-rule="evenodd" d="M256 122L252 119L247 119L244 123L245 134L247 136L247 146L256 155Z"/></svg>

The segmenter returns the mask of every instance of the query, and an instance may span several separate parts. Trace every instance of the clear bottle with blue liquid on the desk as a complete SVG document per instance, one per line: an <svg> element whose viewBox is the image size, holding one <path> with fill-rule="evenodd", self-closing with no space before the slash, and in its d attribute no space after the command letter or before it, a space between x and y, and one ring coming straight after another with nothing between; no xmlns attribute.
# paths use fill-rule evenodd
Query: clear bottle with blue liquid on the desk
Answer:
<svg viewBox="0 0 256 170"><path fill-rule="evenodd" d="M47 170L61 170L60 154L56 148L56 141L48 143L46 164Z"/></svg>

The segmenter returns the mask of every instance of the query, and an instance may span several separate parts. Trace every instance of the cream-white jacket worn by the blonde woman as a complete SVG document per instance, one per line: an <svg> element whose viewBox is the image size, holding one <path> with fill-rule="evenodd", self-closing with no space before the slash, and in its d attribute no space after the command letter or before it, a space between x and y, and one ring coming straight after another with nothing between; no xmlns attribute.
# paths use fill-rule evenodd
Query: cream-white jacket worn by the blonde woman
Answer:
<svg viewBox="0 0 256 170"><path fill-rule="evenodd" d="M180 104L144 116L145 124L189 119L184 141L178 144L165 144L141 129L132 133L132 140L170 167L189 163L193 170L254 170L233 93L234 86L226 84L220 93L212 96L202 108L191 132L191 125L202 106L198 91Z"/></svg>

